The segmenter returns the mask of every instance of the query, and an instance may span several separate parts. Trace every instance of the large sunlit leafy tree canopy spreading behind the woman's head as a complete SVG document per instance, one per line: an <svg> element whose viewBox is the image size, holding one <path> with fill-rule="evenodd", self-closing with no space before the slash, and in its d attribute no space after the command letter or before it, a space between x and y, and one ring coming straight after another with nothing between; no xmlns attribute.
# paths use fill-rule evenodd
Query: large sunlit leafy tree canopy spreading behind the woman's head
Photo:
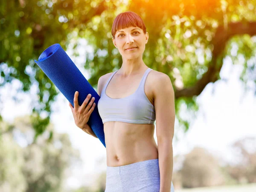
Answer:
<svg viewBox="0 0 256 192"><path fill-rule="evenodd" d="M243 65L241 80L255 85L255 1L5 1L0 5L0 86L19 79L22 90L28 91L32 82L38 84L33 110L37 135L49 123L50 105L58 91L33 59L54 43L66 49L71 40L84 38L93 49L84 53L84 67L91 75L88 81L96 87L100 76L122 65L111 40L111 26L114 17L126 10L137 12L145 21L149 41L143 59L173 82L176 117L185 131L191 120L180 115L181 106L196 115L196 97L207 84L221 80L224 58ZM46 118L40 116L43 111Z"/></svg>

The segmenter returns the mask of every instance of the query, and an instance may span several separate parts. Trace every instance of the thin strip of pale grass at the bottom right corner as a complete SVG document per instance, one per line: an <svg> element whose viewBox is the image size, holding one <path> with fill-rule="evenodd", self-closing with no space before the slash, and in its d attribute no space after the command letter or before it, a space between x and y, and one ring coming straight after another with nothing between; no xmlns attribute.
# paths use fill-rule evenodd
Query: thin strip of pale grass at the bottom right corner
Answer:
<svg viewBox="0 0 256 192"><path fill-rule="evenodd" d="M176 189L175 192L256 192L256 183L246 185Z"/></svg>

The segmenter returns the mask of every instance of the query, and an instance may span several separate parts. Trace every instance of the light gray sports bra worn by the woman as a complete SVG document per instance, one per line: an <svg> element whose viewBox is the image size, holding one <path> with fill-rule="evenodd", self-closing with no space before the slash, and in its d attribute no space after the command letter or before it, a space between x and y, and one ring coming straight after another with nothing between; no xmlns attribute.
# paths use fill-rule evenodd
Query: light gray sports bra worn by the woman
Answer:
<svg viewBox="0 0 256 192"><path fill-rule="evenodd" d="M139 87L133 94L120 99L112 99L105 93L109 82L118 70L111 75L103 87L98 101L98 111L103 123L119 121L135 124L154 124L156 119L155 108L144 92L145 81L151 70L148 68L145 71Z"/></svg>

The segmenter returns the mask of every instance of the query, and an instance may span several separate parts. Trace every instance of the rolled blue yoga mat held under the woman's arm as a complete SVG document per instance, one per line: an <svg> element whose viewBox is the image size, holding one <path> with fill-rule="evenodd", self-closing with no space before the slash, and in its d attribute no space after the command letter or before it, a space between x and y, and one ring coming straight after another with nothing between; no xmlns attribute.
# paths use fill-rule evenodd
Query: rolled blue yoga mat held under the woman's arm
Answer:
<svg viewBox="0 0 256 192"><path fill-rule="evenodd" d="M61 45L54 44L45 49L39 56L38 61L35 60L35 63L38 64L73 106L76 91L79 92L78 103L80 106L89 93L92 95L91 98L95 98L96 106L87 124L106 147L103 123L97 107L100 96L62 49Z"/></svg>

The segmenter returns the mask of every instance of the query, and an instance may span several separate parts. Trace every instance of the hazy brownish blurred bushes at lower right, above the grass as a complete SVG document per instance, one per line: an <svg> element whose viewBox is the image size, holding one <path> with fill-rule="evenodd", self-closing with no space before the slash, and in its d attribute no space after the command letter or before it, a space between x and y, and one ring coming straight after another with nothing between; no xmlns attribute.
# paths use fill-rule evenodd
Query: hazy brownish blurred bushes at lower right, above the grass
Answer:
<svg viewBox="0 0 256 192"><path fill-rule="evenodd" d="M236 140L230 145L232 161L201 147L175 156L172 175L175 188L256 183L255 145L255 137Z"/></svg>

